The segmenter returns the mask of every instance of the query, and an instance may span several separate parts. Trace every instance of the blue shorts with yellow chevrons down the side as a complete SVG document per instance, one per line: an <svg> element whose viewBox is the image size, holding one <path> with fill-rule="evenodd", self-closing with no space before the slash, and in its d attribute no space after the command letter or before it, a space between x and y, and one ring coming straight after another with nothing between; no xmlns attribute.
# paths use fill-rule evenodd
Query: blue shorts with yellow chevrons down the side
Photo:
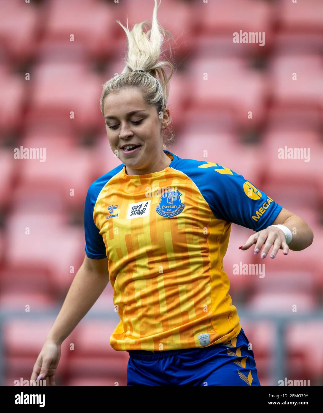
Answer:
<svg viewBox="0 0 323 413"><path fill-rule="evenodd" d="M242 328L236 338L182 350L130 350L127 386L260 386Z"/></svg>

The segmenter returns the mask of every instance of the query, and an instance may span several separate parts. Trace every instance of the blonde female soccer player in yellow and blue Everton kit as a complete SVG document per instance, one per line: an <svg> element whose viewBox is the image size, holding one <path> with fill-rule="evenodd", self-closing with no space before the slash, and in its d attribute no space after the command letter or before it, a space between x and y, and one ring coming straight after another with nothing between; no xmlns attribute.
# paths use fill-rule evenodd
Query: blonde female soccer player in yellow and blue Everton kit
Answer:
<svg viewBox="0 0 323 413"><path fill-rule="evenodd" d="M166 31L157 8L155 0L146 33L147 23L132 31L120 24L129 46L125 69L104 84L100 104L111 149L122 164L90 185L85 259L31 380L48 376L55 385L61 343L110 279L120 316L110 344L129 352L128 386L259 386L222 264L231 223L255 231L239 248L255 244L262 258L271 247L274 258L279 249L288 254L313 240L302 218L243 176L165 150L165 66L173 68L159 61Z"/></svg>

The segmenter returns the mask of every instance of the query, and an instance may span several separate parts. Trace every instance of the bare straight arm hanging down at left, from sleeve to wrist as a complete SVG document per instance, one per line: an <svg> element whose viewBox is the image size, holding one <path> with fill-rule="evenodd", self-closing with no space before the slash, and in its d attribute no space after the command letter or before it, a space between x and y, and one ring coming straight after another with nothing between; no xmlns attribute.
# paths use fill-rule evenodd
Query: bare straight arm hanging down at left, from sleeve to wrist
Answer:
<svg viewBox="0 0 323 413"><path fill-rule="evenodd" d="M97 301L108 281L108 259L91 259L85 254L46 339L61 344Z"/></svg>

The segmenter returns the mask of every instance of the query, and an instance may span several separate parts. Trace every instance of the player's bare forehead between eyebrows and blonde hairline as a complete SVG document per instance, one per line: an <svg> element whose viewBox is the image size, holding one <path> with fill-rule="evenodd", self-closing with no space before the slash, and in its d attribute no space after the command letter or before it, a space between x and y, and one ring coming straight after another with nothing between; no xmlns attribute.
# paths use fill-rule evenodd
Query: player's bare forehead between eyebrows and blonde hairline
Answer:
<svg viewBox="0 0 323 413"><path fill-rule="evenodd" d="M133 110L151 111L151 106L144 102L138 89L123 89L110 93L104 99L104 116L122 115Z"/></svg>

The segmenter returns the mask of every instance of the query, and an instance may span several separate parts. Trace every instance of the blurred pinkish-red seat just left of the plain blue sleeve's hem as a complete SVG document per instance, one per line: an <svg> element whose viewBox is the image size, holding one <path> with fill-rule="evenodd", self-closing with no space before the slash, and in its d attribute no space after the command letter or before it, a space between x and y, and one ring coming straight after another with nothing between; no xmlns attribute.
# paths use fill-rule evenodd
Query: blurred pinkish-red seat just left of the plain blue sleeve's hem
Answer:
<svg viewBox="0 0 323 413"><path fill-rule="evenodd" d="M19 212L8 217L6 236L6 263L48 267L57 288L66 294L85 256L82 228L68 226L60 214Z"/></svg>

